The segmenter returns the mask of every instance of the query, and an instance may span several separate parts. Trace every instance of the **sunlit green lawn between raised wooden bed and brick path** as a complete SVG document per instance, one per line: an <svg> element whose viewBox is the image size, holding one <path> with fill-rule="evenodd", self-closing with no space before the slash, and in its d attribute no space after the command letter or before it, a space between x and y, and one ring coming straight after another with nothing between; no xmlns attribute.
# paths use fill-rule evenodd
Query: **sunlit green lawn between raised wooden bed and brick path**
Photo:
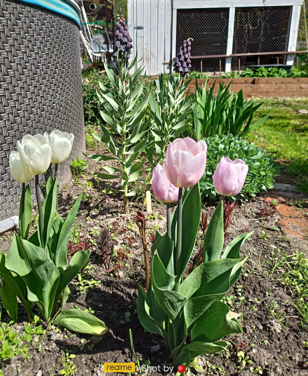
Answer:
<svg viewBox="0 0 308 376"><path fill-rule="evenodd" d="M308 109L308 97L255 99L255 104L260 102L264 103L253 121L267 114L270 117L246 137L247 141L285 161L287 173L308 175L308 115L297 113Z"/></svg>

